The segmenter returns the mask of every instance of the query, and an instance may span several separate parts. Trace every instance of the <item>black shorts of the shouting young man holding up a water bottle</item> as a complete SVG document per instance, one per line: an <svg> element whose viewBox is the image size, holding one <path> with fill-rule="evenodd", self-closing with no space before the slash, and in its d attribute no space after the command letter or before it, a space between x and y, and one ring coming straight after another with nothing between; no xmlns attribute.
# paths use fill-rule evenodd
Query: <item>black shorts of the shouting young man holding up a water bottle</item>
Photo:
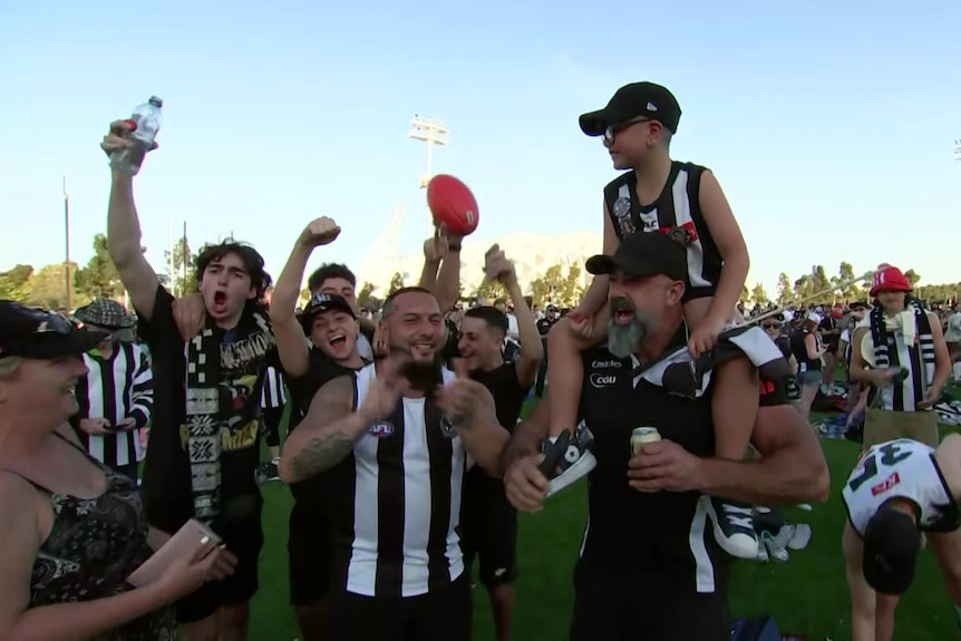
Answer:
<svg viewBox="0 0 961 641"><path fill-rule="evenodd" d="M223 538L227 550L237 557L233 576L216 583L206 583L196 592L176 603L181 623L196 623L212 615L222 605L242 605L256 594L258 564L263 547L260 493L234 496L221 503L221 517L212 530ZM193 517L193 499L147 502L147 518L154 527L168 534L176 533Z"/></svg>

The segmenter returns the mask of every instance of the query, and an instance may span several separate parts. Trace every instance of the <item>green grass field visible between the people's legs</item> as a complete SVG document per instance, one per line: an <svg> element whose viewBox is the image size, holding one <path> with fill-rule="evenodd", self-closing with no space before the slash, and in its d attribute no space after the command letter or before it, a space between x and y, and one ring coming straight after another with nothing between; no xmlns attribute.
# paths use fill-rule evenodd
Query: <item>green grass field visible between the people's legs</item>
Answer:
<svg viewBox="0 0 961 641"><path fill-rule="evenodd" d="M831 466L831 498L815 505L813 512L786 511L789 521L810 524L810 545L792 552L790 561L784 564L738 561L731 579L730 606L734 616L773 614L783 634L803 634L808 641L844 641L851 639L851 625L841 553L846 518L841 486L857 458L858 446L846 440L822 443ZM288 489L276 484L264 487L264 498L266 543L261 559L261 589L253 602L251 639L288 641L299 637L287 579L291 498ZM514 622L517 641L566 639L573 602L571 576L585 517L584 483L552 497L543 512L521 515L521 576ZM475 590L474 603L475 639L494 639L483 589ZM896 640L961 639L954 608L930 550L922 552L914 585L899 606L897 625Z"/></svg>

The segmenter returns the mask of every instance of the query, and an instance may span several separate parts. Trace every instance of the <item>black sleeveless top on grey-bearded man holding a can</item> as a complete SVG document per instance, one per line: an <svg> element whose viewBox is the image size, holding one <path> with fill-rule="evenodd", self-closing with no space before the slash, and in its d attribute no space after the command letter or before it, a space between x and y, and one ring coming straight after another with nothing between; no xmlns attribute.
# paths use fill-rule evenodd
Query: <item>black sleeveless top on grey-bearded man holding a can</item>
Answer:
<svg viewBox="0 0 961 641"><path fill-rule="evenodd" d="M683 336L679 339L670 348L683 346ZM701 565L689 541L697 535L705 542L718 584L726 584L728 561L710 526L705 533L705 522L699 521L700 493L642 493L628 485L635 427L656 427L695 456L714 455L710 392L692 399L644 379L635 383L632 360L615 358L604 348L582 357L580 414L594 435L592 451L598 459L588 485L590 526L582 559L669 575L692 589Z"/></svg>

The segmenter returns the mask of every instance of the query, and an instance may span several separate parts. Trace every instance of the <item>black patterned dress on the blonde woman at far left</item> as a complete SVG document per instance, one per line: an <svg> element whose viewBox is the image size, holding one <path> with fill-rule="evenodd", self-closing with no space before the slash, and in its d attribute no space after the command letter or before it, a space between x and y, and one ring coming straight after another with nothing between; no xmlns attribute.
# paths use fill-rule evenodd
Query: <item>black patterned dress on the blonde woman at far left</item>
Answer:
<svg viewBox="0 0 961 641"><path fill-rule="evenodd" d="M54 527L33 563L31 608L94 601L133 590L126 577L153 553L147 545L146 512L137 484L90 460L107 476L107 489L96 498L56 494L33 484L50 495ZM175 638L173 610L163 609L95 639L173 641Z"/></svg>

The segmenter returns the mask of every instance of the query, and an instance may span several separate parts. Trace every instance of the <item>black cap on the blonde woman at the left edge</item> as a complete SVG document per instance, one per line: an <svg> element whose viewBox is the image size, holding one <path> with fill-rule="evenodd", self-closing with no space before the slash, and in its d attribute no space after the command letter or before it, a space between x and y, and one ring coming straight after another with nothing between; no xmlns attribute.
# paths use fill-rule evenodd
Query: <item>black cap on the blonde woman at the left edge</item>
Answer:
<svg viewBox="0 0 961 641"><path fill-rule="evenodd" d="M0 300L0 359L54 360L90 351L109 334L77 329L58 313Z"/></svg>

